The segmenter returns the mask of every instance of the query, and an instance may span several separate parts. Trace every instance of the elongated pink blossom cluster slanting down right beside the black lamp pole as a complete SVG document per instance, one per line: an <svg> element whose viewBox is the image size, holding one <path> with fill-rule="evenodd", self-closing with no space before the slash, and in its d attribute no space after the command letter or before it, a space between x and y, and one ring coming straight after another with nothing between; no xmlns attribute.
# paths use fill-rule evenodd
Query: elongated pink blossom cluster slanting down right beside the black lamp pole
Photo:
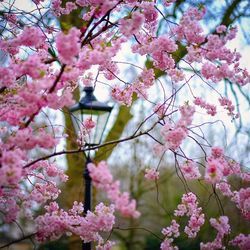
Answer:
<svg viewBox="0 0 250 250"><path fill-rule="evenodd" d="M123 216L133 218L140 216L140 212L136 210L136 201L130 201L127 192L121 193L119 189L120 183L119 181L113 181L113 176L106 162L101 161L98 165L89 163L88 170L94 186L107 193L108 198L115 204L115 208Z"/></svg>

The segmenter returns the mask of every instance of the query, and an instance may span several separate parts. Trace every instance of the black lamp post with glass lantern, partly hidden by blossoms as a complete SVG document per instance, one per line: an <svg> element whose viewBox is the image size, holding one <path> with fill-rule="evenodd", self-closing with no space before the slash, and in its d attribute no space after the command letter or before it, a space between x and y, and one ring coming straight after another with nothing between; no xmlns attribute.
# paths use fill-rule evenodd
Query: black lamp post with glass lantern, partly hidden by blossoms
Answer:
<svg viewBox="0 0 250 250"><path fill-rule="evenodd" d="M74 124L75 132L81 129L83 122L90 118L95 122L95 128L93 128L86 138L86 146L96 146L102 142L104 132L112 111L111 106L106 103L99 102L94 96L93 87L85 87L85 95L70 108L71 118ZM87 164L91 162L89 153L86 157L86 162L83 171L84 177L84 213L86 214L88 210L91 210L91 177L87 168ZM83 250L91 250L91 243L83 243Z"/></svg>

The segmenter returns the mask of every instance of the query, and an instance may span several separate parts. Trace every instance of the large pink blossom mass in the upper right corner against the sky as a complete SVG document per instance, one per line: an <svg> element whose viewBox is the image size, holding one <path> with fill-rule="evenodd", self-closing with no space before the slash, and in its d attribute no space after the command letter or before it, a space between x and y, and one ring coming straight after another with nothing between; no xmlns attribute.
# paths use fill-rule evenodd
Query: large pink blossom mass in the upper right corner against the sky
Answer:
<svg viewBox="0 0 250 250"><path fill-rule="evenodd" d="M189 8L172 31L177 40L187 42L187 61L202 63L201 75L213 82L227 78L241 86L249 83L249 73L239 66L240 54L226 47L235 38L237 29L220 25L216 34L205 37L199 23L204 14L205 8Z"/></svg>

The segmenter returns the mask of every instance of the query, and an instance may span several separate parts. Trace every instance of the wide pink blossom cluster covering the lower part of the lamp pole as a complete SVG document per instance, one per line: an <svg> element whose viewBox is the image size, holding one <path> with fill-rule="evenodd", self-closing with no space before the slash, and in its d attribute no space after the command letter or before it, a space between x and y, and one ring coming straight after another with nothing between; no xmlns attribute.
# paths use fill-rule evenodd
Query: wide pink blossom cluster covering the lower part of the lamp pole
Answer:
<svg viewBox="0 0 250 250"><path fill-rule="evenodd" d="M73 233L84 242L98 241L102 244L99 232L110 232L115 223L113 205L100 203L94 212L88 211L85 217L82 216L83 204L76 201L68 212L60 209L56 202L51 202L45 209L47 212L35 219L38 241L56 240L65 233Z"/></svg>

